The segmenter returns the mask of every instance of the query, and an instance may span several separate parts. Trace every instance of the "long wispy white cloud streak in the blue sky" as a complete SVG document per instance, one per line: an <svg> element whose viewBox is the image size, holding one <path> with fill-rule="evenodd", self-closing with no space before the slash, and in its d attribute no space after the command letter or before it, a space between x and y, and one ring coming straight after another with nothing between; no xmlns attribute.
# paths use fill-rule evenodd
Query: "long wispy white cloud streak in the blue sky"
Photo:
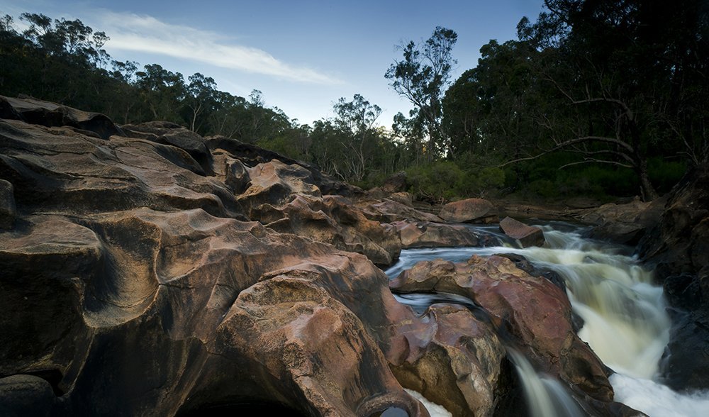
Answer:
<svg viewBox="0 0 709 417"><path fill-rule="evenodd" d="M217 67L313 84L342 81L307 67L289 65L257 48L236 45L207 30L164 23L152 16L106 11L96 16L111 38L109 50L133 50L205 62Z"/></svg>

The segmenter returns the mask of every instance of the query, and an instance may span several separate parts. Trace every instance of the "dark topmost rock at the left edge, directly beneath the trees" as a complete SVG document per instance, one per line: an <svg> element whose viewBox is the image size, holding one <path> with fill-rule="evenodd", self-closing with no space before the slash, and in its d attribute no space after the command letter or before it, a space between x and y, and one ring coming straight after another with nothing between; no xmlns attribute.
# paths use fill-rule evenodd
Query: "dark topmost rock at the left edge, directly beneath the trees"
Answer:
<svg viewBox="0 0 709 417"><path fill-rule="evenodd" d="M124 135L123 130L116 126L107 116L101 113L91 113L72 109L69 106L21 97L12 99L11 97L0 96L4 106L11 106L12 111L4 111L3 118L7 116L19 115L18 120L27 123L39 124L42 126L71 126L80 130L96 133L101 139L108 139L112 135ZM14 117L12 117L14 118Z"/></svg>

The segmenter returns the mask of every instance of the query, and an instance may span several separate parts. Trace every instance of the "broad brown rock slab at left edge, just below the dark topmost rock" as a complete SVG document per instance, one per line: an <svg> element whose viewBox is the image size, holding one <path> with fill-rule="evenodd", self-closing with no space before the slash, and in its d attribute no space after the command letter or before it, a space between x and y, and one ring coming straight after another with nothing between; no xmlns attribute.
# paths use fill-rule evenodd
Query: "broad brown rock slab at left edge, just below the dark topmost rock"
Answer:
<svg viewBox="0 0 709 417"><path fill-rule="evenodd" d="M0 177L13 184L18 206L39 205L42 211L79 216L136 207L203 208L216 216L245 219L223 183L163 156L172 150L177 148L0 121Z"/></svg>

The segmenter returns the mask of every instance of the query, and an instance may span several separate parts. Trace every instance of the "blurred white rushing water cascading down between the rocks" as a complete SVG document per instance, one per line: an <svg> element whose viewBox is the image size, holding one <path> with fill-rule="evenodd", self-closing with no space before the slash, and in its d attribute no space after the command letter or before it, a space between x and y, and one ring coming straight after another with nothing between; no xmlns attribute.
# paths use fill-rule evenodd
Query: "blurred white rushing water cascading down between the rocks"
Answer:
<svg viewBox="0 0 709 417"><path fill-rule="evenodd" d="M471 255L515 253L557 272L566 282L571 306L583 318L579 337L591 346L605 365L617 374L610 378L616 401L652 417L709 416L709 395L678 394L655 382L658 363L669 340L670 320L661 287L652 284L652 272L630 256L629 249L582 237L584 229L566 223L540 226L547 243L543 248L520 248L498 232L497 226L476 227L500 245L488 248L436 248L404 250L396 265L386 271L396 277L421 260L443 258L454 262ZM449 294L407 294L399 301L423 311L430 304L469 300ZM581 415L562 384L535 374L525 357L510 350L532 416Z"/></svg>

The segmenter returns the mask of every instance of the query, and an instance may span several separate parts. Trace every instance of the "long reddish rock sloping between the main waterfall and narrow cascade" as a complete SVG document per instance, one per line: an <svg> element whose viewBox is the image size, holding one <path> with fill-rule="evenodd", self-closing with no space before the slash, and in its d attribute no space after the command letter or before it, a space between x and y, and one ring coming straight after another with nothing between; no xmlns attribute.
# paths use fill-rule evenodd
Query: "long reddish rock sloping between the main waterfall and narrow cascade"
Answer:
<svg viewBox="0 0 709 417"><path fill-rule="evenodd" d="M588 413L625 412L613 403L608 369L574 332L566 294L547 279L530 276L505 257L474 256L467 263L419 262L389 286L466 296L489 314L492 326L506 330L535 369L569 384Z"/></svg>

